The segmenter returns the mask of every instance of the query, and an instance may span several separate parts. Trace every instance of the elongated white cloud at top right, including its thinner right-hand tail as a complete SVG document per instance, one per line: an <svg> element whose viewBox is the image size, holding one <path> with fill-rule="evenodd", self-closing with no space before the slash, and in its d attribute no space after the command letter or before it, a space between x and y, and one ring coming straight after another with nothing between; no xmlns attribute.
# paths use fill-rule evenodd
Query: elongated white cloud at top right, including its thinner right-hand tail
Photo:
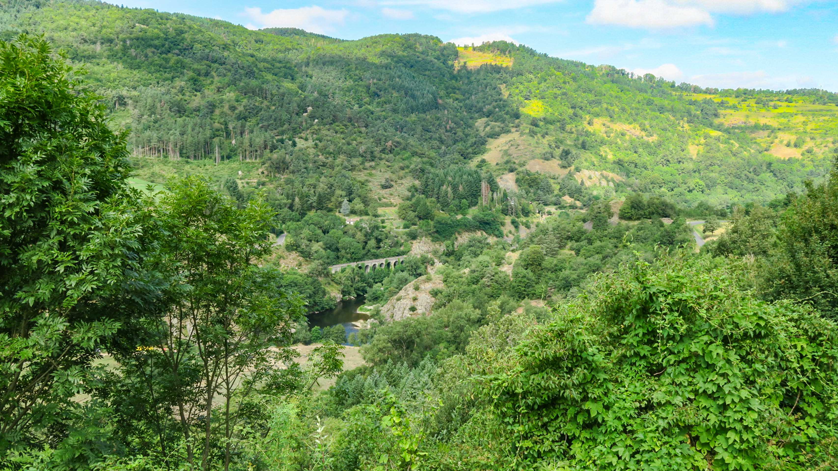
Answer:
<svg viewBox="0 0 838 471"><path fill-rule="evenodd" d="M807 0L595 0L587 22L629 28L713 26L711 13L781 13Z"/></svg>

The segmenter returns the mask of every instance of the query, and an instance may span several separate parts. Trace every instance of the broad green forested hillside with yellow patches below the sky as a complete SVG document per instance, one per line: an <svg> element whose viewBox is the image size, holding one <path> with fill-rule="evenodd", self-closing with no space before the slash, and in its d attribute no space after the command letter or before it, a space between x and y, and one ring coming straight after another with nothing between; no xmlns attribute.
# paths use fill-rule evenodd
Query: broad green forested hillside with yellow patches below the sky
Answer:
<svg viewBox="0 0 838 471"><path fill-rule="evenodd" d="M768 202L824 175L838 142L835 94L704 90L504 42L344 41L77 1L13 2L0 31L44 33L88 71L130 129L137 177L235 177L277 187L277 207L301 215L344 199L386 211L415 193L476 205L477 187L452 184L460 166L548 205L576 187L561 185L570 177L584 205L629 192Z"/></svg>

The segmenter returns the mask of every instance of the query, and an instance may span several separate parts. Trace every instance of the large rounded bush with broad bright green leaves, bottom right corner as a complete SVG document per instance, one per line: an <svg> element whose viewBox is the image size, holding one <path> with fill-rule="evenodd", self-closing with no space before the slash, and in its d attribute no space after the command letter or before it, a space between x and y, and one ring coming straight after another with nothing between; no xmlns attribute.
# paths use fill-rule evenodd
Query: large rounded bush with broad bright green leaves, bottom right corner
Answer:
<svg viewBox="0 0 838 471"><path fill-rule="evenodd" d="M835 468L835 325L688 257L600 276L485 368L510 467Z"/></svg>

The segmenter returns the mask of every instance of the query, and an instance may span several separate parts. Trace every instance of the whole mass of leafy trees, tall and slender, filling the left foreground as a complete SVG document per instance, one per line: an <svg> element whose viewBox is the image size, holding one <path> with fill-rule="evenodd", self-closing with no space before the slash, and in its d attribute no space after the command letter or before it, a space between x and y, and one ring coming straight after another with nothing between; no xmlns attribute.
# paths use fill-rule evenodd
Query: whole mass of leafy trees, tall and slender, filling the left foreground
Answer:
<svg viewBox="0 0 838 471"><path fill-rule="evenodd" d="M141 197L125 141L49 44L22 36L0 58L0 465L229 463L261 387L340 368L334 342L289 366L303 311L261 263L274 212L199 177Z"/></svg>

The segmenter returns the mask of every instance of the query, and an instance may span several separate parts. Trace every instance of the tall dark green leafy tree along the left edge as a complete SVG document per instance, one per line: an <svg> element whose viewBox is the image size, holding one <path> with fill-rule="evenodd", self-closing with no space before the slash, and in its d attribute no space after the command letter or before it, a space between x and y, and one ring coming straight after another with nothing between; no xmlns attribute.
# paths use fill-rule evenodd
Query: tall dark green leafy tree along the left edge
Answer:
<svg viewBox="0 0 838 471"><path fill-rule="evenodd" d="M111 299L141 233L125 141L70 73L43 38L0 42L0 460L72 433L71 397L131 315Z"/></svg>

